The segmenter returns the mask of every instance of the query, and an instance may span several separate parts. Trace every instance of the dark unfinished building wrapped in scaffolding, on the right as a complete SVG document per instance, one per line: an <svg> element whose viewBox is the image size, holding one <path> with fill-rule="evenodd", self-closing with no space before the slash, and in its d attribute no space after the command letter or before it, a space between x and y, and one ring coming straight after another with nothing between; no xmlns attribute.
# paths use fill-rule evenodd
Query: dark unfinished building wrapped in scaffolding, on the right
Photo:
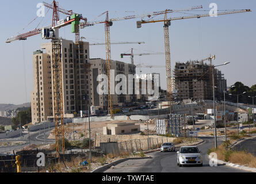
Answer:
<svg viewBox="0 0 256 184"><path fill-rule="evenodd" d="M212 73L208 64L198 61L177 62L173 72L178 100L213 99ZM217 98L220 98L223 91L227 89L227 81L221 71L214 68L213 72L216 86L215 94Z"/></svg>

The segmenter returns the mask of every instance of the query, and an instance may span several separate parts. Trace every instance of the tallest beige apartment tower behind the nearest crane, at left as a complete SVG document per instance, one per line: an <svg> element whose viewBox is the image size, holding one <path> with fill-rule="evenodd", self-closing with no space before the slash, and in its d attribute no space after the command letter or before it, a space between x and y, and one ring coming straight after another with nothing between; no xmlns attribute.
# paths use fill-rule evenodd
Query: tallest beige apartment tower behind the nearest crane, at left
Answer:
<svg viewBox="0 0 256 184"><path fill-rule="evenodd" d="M75 44L64 39L60 42L64 117L72 117L74 112L87 110L90 104L89 43ZM52 74L52 44L41 44L41 50L33 53L33 124L54 117Z"/></svg>

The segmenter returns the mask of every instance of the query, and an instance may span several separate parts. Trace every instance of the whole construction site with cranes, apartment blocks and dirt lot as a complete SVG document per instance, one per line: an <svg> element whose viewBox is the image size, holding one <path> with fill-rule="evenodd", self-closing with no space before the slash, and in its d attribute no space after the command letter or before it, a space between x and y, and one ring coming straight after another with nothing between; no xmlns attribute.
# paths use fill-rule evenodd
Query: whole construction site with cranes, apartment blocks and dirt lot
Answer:
<svg viewBox="0 0 256 184"><path fill-rule="evenodd" d="M172 70L171 22L210 17L210 14L173 18L169 18L169 14L188 13L200 10L202 6L119 18L110 18L109 11L105 11L100 15L105 16L104 20L90 21L86 14L63 9L56 1L43 2L43 5L52 12L52 20L49 20L51 25L6 40L6 44L19 40L26 40L29 44L30 37L41 36L47 43L39 44L40 49L31 53L32 122L22 130L22 137L25 138L21 139L25 141L17 143L15 148L6 146L4 151L0 149L3 154L7 154L5 158L1 155L1 159L6 162L0 162L0 172L21 173L18 167L12 167L16 166L14 157L20 155L24 172L89 173L115 160L147 156L148 151L157 150L163 143L174 143L177 147L199 144L202 140L190 135L196 129L203 130L200 132L203 136L211 135L216 126L224 128L227 123L234 128L229 132L231 135L236 132L238 117L242 119L243 114L249 114L249 108L254 108L223 100L223 92L228 92L227 79L213 65L215 55L202 60L175 62ZM218 16L250 11L222 10ZM61 19L61 14L66 18ZM156 16L163 18L153 20ZM124 56L131 57L131 63L113 60L111 53L115 50L111 49L111 45L146 44L143 41L110 41L113 22L126 20L136 20L138 29L144 24L162 22L159 26L163 26L162 44L165 51L135 53L136 49L132 48L120 53L121 59ZM83 41L85 37L81 34L84 34L84 29L97 24L104 24L105 43ZM59 34L60 29L66 26L71 26L74 41L64 39ZM106 57L91 57L93 45L105 45ZM144 55L165 55L165 65L135 64L134 56ZM136 71L137 68L165 68L166 74L152 71L142 75L142 72L139 74ZM118 78L119 75L123 75L127 82L124 83L124 78ZM128 82L130 76L133 78ZM166 84L156 86L161 78L166 78ZM104 81L106 83L102 85ZM128 93L129 87L132 87L132 93ZM104 93L99 93L101 89L104 89ZM117 93L117 89L125 93ZM159 96L153 98L154 94L143 94L144 90L157 90ZM253 119L253 116L248 115L246 120L250 118ZM8 139L17 141L14 138L19 137L20 132L17 130L0 135L0 140L6 140L6 143ZM217 135L224 135L223 130L219 130ZM38 166L36 155L40 152L44 153L46 160L44 165Z"/></svg>

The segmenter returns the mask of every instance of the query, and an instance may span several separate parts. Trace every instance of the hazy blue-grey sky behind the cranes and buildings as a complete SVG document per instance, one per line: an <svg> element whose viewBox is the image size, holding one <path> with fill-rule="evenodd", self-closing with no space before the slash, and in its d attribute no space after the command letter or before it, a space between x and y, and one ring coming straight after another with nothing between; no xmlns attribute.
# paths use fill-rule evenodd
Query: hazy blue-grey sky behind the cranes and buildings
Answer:
<svg viewBox="0 0 256 184"><path fill-rule="evenodd" d="M35 28L51 25L52 10L48 11L42 19L37 17L37 3L41 1L3 1L2 18L0 25L0 104L23 104L30 102L30 93L33 91L33 52L40 49L42 40L40 35L29 37L26 41L14 41L6 44L8 37L17 33L25 33ZM50 0L45 0L52 3ZM230 14L218 17L193 18L171 22L170 52L171 67L175 62L188 60L201 60L210 54L216 55L213 64L231 62L227 66L219 68L227 79L228 86L239 81L251 87L256 84L254 71L255 45L256 45L256 1L244 0L95 0L95 1L66 1L59 0L59 6L83 14L88 21L105 20L105 16L98 17L101 13L109 11L110 18L124 17L132 14L140 15L152 11L165 9L188 9L192 6L202 5L207 11L185 11L191 14L209 13L209 5L216 3L218 10L251 9L249 13ZM12 6L10 5L12 4ZM47 11L47 9L45 9ZM184 13L170 13L167 17L189 16ZM60 14L60 18L64 18ZM30 23L32 20L34 20ZM155 19L163 18L163 15ZM110 27L110 40L114 41L144 41L145 44L112 45L111 54L113 60L131 63L130 58L121 59L120 53L129 53L131 48L135 53L165 52L163 38L163 23L143 24L142 28L136 28L137 19L116 21ZM29 24L30 23L30 24ZM71 33L71 26L60 30L60 36L67 40L75 40ZM97 24L86 29L81 29L81 36L91 43L104 43L104 24ZM91 46L90 58L106 58L105 45ZM135 64L165 66L165 55L135 56ZM161 74L161 87L166 89L165 68L137 68L137 73L143 74L159 72Z"/></svg>

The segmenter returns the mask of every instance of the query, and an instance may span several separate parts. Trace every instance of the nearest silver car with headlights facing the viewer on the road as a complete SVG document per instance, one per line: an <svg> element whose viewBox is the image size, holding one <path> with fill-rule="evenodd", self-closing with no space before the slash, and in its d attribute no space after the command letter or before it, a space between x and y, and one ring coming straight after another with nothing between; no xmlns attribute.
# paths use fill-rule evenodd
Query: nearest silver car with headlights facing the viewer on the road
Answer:
<svg viewBox="0 0 256 184"><path fill-rule="evenodd" d="M196 146L183 146L177 152L177 164L202 166L202 155Z"/></svg>

